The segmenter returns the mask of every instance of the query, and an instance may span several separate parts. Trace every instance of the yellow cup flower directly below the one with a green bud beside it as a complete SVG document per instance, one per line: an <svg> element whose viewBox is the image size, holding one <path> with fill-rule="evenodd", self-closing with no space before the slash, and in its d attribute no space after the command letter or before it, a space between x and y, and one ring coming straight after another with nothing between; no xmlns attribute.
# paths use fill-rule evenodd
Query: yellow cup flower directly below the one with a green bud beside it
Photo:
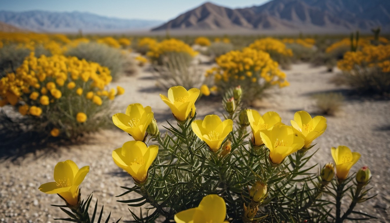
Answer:
<svg viewBox="0 0 390 223"><path fill-rule="evenodd" d="M120 168L126 170L138 183L147 179L149 167L156 159L158 146L147 147L141 141L128 141L112 152L112 159Z"/></svg>

